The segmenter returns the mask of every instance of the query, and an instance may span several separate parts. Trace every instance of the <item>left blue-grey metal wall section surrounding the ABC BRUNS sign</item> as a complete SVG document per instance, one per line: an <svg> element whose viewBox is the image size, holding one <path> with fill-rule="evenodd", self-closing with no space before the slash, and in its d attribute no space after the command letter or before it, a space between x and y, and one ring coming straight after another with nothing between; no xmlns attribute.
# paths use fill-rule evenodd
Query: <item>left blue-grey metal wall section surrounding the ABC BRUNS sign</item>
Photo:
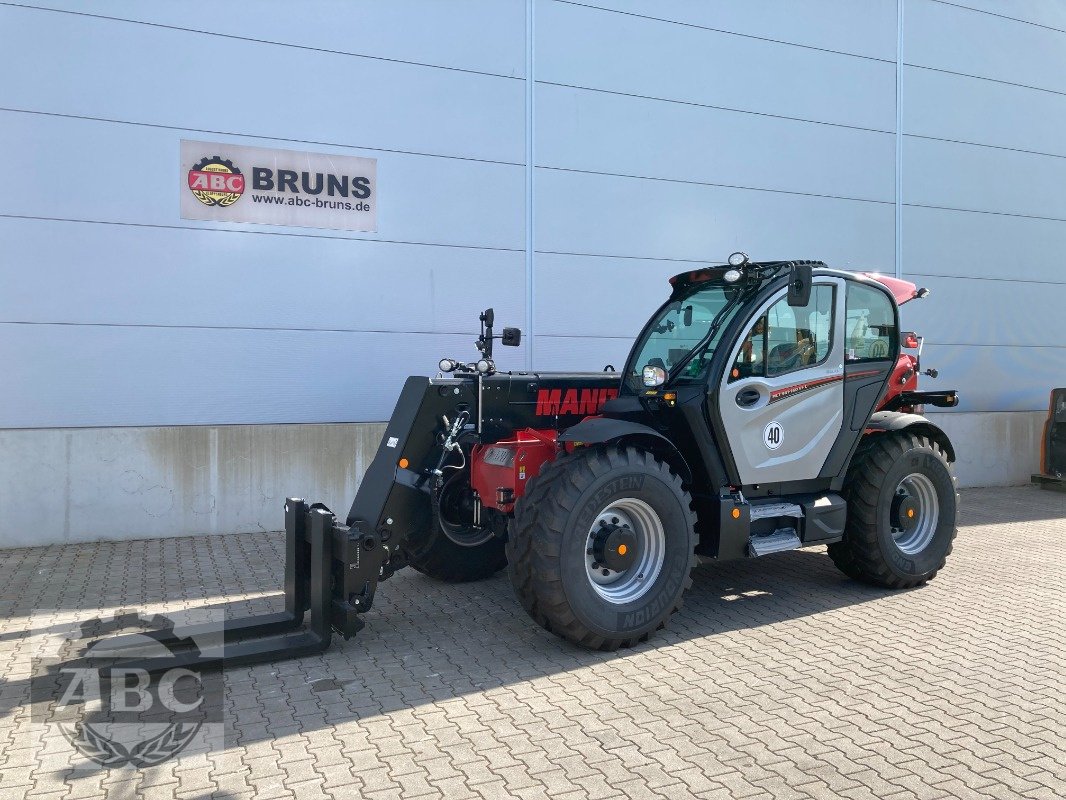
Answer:
<svg viewBox="0 0 1066 800"><path fill-rule="evenodd" d="M0 427L381 420L524 323L522 2L36 5L79 13L0 6ZM181 138L377 158L378 233L181 220Z"/></svg>

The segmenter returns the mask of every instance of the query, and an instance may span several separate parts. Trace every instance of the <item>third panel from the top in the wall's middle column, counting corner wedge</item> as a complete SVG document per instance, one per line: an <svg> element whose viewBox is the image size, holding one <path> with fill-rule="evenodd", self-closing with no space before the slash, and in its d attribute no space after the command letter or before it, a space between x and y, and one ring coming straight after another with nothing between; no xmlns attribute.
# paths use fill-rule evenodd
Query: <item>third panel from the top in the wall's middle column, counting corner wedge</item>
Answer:
<svg viewBox="0 0 1066 800"><path fill-rule="evenodd" d="M539 165L890 202L895 139L540 85ZM758 157L753 158L754 154Z"/></svg>

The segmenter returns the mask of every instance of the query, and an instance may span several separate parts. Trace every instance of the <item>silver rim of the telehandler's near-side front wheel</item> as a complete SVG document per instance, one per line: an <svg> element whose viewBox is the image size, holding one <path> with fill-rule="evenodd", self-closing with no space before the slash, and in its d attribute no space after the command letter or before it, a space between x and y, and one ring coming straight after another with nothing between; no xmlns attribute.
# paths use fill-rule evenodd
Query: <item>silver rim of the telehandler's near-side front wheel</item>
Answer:
<svg viewBox="0 0 1066 800"><path fill-rule="evenodd" d="M625 570L611 570L597 561L594 541L605 527L628 530L634 539L635 557ZM651 589L666 560L666 532L659 514L635 497L615 500L603 509L588 529L585 574L603 599L621 605L643 597Z"/></svg>

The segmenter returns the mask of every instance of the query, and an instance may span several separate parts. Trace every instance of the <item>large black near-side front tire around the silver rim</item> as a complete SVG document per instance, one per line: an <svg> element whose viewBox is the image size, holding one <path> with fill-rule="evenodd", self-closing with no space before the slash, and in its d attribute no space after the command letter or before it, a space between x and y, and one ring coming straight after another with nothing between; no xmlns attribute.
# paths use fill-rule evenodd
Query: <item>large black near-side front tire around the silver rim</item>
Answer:
<svg viewBox="0 0 1066 800"><path fill-rule="evenodd" d="M662 530L659 573L628 602L599 594L587 572L589 531L616 501L639 514L652 510ZM595 650L632 646L681 607L696 564L695 524L681 479L651 453L579 448L545 465L515 505L507 539L511 581L522 607L548 630ZM617 579L629 574L619 570Z"/></svg>

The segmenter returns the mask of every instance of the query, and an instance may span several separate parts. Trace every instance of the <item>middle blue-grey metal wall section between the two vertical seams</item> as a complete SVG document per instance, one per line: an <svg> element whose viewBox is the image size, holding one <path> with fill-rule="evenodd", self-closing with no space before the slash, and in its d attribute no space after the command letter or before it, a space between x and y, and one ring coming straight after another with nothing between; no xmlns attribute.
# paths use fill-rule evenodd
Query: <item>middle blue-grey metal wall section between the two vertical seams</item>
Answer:
<svg viewBox="0 0 1066 800"><path fill-rule="evenodd" d="M537 11L538 366L620 366L734 250L893 268L895 0Z"/></svg>

